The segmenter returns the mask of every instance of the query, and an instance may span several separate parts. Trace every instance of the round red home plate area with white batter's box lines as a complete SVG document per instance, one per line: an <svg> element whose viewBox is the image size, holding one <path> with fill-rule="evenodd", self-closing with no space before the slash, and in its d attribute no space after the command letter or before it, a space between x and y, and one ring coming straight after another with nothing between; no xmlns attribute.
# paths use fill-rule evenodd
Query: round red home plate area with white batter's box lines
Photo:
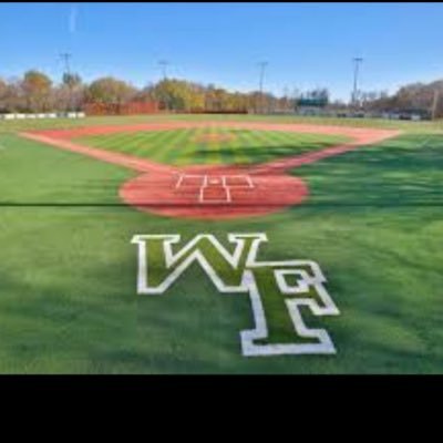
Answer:
<svg viewBox="0 0 443 443"><path fill-rule="evenodd" d="M167 217L229 219L272 214L300 204L306 183L284 173L250 176L234 168L216 172L183 169L171 176L145 174L120 189L124 202L140 210Z"/></svg>

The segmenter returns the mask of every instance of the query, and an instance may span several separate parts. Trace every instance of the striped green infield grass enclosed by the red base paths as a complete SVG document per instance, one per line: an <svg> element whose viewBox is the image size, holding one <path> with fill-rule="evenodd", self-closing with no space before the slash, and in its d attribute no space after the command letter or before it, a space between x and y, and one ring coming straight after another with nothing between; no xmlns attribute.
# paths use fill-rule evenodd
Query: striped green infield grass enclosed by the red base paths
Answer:
<svg viewBox="0 0 443 443"><path fill-rule="evenodd" d="M212 136L226 138L208 138ZM322 150L348 141L344 136L192 128L117 133L76 138L80 143L173 165L251 164Z"/></svg>

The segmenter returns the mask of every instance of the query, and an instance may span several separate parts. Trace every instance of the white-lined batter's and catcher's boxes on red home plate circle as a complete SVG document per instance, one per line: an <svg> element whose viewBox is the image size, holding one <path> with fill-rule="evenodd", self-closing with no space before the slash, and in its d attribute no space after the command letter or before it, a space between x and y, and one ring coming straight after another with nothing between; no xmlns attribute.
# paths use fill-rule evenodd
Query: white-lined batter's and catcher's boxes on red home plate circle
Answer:
<svg viewBox="0 0 443 443"><path fill-rule="evenodd" d="M198 203L231 203L230 189L253 189L254 182L248 174L179 174L176 189L195 188Z"/></svg>

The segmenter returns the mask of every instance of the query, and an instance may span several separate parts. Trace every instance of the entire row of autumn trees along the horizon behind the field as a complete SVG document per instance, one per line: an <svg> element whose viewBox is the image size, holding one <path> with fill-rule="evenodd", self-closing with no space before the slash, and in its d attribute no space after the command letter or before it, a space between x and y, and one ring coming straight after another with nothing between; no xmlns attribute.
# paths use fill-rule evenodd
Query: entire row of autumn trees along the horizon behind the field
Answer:
<svg viewBox="0 0 443 443"><path fill-rule="evenodd" d="M156 101L159 109L171 112L291 112L306 100L320 100L330 109L349 109L341 101L330 102L327 89L315 89L281 96L259 91L233 92L214 84L204 85L179 79L164 79L145 87L113 76L90 83L75 73L64 74L54 83L43 72L30 70L20 79L0 78L0 113L81 111L87 103L123 105L130 102ZM356 104L354 104L356 105ZM400 87L394 94L360 92L358 107L375 112L419 111L443 117L443 80L430 84L414 83Z"/></svg>

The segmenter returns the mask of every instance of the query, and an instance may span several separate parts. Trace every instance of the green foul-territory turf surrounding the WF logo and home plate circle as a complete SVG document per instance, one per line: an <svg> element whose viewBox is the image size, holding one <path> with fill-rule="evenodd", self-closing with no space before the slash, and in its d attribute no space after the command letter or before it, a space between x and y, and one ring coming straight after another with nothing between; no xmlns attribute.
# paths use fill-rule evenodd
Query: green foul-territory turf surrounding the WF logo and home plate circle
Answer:
<svg viewBox="0 0 443 443"><path fill-rule="evenodd" d="M130 171L0 135L0 372L441 373L442 135L405 134L293 174L311 192L301 206L187 222L122 205ZM137 297L132 236L202 231L264 231L260 258L318 261L341 310L319 322L338 354L243 358L248 297L220 296L197 267L168 293Z"/></svg>

